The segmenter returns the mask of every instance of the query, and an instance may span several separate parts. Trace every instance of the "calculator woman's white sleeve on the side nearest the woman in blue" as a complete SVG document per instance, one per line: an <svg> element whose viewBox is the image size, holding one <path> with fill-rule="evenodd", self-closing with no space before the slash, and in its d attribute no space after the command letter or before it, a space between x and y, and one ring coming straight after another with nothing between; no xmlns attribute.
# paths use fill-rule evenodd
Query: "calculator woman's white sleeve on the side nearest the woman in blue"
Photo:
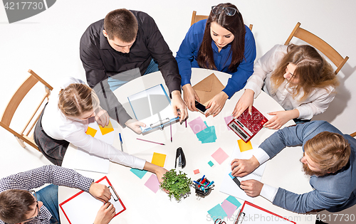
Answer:
<svg viewBox="0 0 356 224"><path fill-rule="evenodd" d="M256 61L253 66L253 74L248 78L245 86L245 89L250 89L255 92L255 99L261 93L261 88L266 79L266 75L272 73L276 68L277 63L279 63L286 53L286 49L287 46L276 45Z"/></svg>

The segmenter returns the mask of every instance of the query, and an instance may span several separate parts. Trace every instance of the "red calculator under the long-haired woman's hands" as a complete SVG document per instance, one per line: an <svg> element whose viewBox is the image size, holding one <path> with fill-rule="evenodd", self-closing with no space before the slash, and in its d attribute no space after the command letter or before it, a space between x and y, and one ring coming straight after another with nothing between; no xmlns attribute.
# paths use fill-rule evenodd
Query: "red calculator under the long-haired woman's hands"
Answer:
<svg viewBox="0 0 356 224"><path fill-rule="evenodd" d="M268 119L252 106L251 115L247 108L239 117L232 119L228 126L247 143L262 129L266 122L268 122Z"/></svg>

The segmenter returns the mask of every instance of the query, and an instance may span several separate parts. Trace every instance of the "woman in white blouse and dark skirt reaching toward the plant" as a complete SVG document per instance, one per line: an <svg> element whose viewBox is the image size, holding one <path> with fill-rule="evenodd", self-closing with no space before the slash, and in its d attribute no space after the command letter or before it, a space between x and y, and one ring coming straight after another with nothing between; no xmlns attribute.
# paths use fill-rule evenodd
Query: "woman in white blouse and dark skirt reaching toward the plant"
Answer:
<svg viewBox="0 0 356 224"><path fill-rule="evenodd" d="M85 134L90 117L95 117L102 127L109 124L109 115L100 107L95 92L82 80L69 78L61 88L53 90L51 99L38 119L33 136L38 148L53 164L61 166L68 144L71 143L115 163L151 171L157 175L159 182L162 181L166 169ZM125 124L130 125L130 122L132 119Z"/></svg>

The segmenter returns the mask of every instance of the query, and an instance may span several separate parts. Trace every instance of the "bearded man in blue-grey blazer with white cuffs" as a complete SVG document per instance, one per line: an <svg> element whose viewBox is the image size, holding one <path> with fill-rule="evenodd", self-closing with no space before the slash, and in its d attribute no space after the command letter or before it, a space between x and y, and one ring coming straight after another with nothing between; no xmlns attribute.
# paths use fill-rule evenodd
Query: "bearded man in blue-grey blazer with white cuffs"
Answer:
<svg viewBox="0 0 356 224"><path fill-rule="evenodd" d="M313 191L297 194L259 181L241 181L248 196L261 195L296 213L337 212L356 204L356 139L325 121L306 122L279 130L266 139L251 159L234 159L232 175L245 176L286 146L303 146L305 174Z"/></svg>

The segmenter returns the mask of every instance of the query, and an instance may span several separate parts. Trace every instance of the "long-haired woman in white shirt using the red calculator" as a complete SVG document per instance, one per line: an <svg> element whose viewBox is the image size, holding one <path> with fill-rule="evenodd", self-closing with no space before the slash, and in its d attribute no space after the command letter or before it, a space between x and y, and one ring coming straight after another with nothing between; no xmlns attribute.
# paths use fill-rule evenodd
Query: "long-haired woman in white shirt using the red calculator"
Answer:
<svg viewBox="0 0 356 224"><path fill-rule="evenodd" d="M263 87L285 109L268 113L274 115L264 125L269 129L280 129L290 119L308 122L325 112L339 85L331 65L308 45L276 45L256 61L253 70L233 116L239 117L247 108L251 112L253 98Z"/></svg>

